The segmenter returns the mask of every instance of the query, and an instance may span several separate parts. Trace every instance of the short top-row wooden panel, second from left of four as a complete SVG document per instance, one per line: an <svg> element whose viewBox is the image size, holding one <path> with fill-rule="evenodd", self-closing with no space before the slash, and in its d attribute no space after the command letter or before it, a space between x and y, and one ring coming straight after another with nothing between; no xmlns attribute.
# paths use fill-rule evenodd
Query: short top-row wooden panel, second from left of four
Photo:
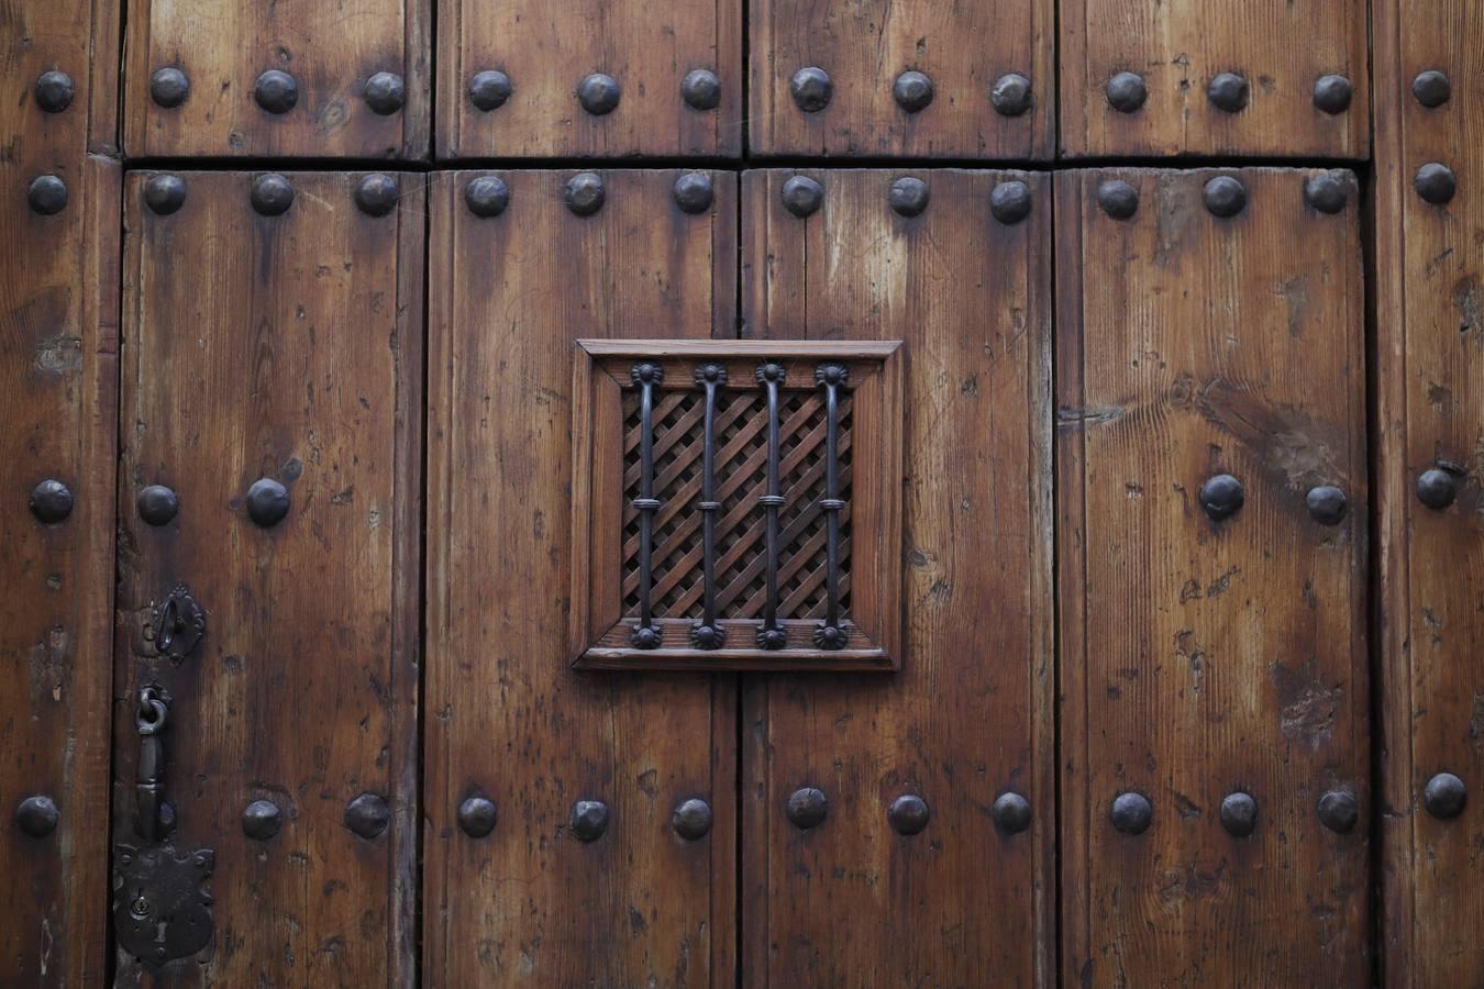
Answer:
<svg viewBox="0 0 1484 989"><path fill-rule="evenodd" d="M741 154L739 0L441 0L438 18L439 159ZM485 70L510 82L494 110L469 99L469 82ZM715 108L681 98L693 70L717 74ZM591 73L619 83L608 114L577 101Z"/></svg>

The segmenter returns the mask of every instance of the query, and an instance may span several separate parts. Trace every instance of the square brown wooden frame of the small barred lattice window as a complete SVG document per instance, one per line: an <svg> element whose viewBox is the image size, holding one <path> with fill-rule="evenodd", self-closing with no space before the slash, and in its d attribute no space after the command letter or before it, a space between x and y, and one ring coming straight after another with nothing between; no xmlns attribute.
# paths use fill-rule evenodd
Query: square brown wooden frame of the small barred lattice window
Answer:
<svg viewBox="0 0 1484 989"><path fill-rule="evenodd" d="M901 341L576 341L571 418L573 586L568 627L571 664L579 669L610 670L896 670L901 661L902 629L904 363ZM843 598L840 587L846 580L849 584L847 611L835 609L840 615L838 632L824 630L828 621L818 617L779 615L776 606L772 611L773 618L776 618L773 627L782 629L782 635L775 633L776 638L758 635L767 627L764 618L720 615L715 624L723 629L723 633L715 636L702 620L689 612L678 617L653 618L647 626L654 630L653 635L635 632L643 623L632 614L626 614L625 544L632 547L638 537L632 534L626 537L625 534L626 504L631 529L632 517L644 515L635 506L644 503L653 520L662 504L659 498L646 501L634 497L632 477L635 472L640 472L640 467L632 463L634 454L626 454L626 440L629 445L634 442L637 415L632 409L640 402L637 396L643 394L644 386L638 378L640 368L644 365L659 369L657 381L651 377L651 371L644 372L646 381L650 383L649 394L651 399L657 400L657 396L675 396L675 393L695 393L699 397L692 399L692 402L703 402L709 381L717 397L706 402L705 408L715 411L723 400L736 402L743 397L739 393L746 390L754 396L761 396L746 400L757 402L764 409L761 414L764 427L770 418L766 412L769 386L761 380L760 369L766 365L775 365L782 371L782 378L776 378L778 371L769 372L776 378L775 397L789 396L792 405L798 406L797 417L813 414L810 436L816 440L819 430L824 429L821 426L824 414L819 409L830 408L827 396L834 394L841 409L846 400L849 402L847 497L819 497L809 501L815 522L819 517L828 517L831 509L835 519L840 519L841 515L849 519L849 571L841 578L841 566L837 563L828 568L827 575L827 581L835 587L837 603ZM697 378L697 371L708 365L718 368L723 374L711 371L709 378ZM804 397L806 393L818 396L816 406L801 408L804 402L810 400ZM628 409L626 396L635 396L628 399ZM680 400L684 400L684 396L672 399L671 408L675 408L674 403ZM837 420L844 415L846 412L840 412ZM779 414L773 417L773 421L781 423L782 418ZM696 415L692 414L687 421L695 420ZM755 424L751 424L751 429L757 429ZM825 430L827 434L828 431ZM650 434L657 436L653 426ZM715 440L717 437L712 434L714 460L723 460ZM801 446L803 440L798 443ZM766 451L763 455L767 455ZM755 460L757 454L754 452L751 457ZM714 460L706 463L714 464ZM653 463L653 457L650 463ZM837 458L837 466L838 463ZM828 455L825 455L825 464L828 464ZM718 470L724 469L726 464L721 464L720 469L714 466L712 477L715 479ZM625 477L626 470L628 479ZM649 472L650 477L656 477L656 470ZM824 469L816 466L813 472L815 483L822 485L824 482L819 482L818 476L824 474ZM695 473L687 476L693 477ZM703 482L703 476L702 473L702 480L689 480L687 483L699 485ZM794 477L794 480L800 485L804 483L800 477ZM732 486L738 488L741 483ZM663 492L656 491L654 494ZM761 497L751 498L746 503L746 510L758 513L758 520L751 528L764 525L763 519L769 512L766 506L782 504L782 498L773 501ZM798 498L795 497L794 501ZM699 522L692 522L692 529L699 525L714 525L706 522L706 506L709 506L711 517L715 517L721 509L718 501L708 503L700 497L683 504L687 506L684 510L697 513ZM727 512L729 517L736 517L736 513L742 510L738 507L741 504L743 504L741 498L732 503ZM782 510L776 509L775 517ZM792 510L800 512L798 506L792 506ZM674 510L671 517L674 517ZM651 538L651 546L653 543ZM840 543L835 544L840 546ZM714 550L709 556L703 555L703 559L708 560L706 566L711 568L705 592L708 601L715 599L714 574L718 552ZM769 569L767 560L779 559L776 549L772 555L764 550L755 552L763 553L766 569ZM837 553L837 559L838 556ZM776 581L778 566L770 569ZM634 583L632 578L629 583ZM769 595L769 598L775 605L779 601L778 595ZM712 614L717 614L715 608L712 608ZM700 633L724 638L724 642L700 648L697 642L708 641L697 639ZM778 644L785 641L787 645L778 648ZM640 648L635 642L644 642L646 648ZM770 648L763 648L763 642L767 642Z"/></svg>

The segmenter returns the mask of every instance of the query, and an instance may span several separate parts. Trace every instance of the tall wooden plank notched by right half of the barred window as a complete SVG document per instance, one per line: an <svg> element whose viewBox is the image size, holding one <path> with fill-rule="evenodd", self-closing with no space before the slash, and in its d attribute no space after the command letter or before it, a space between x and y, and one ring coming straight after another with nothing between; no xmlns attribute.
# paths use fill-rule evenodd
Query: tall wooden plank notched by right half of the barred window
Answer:
<svg viewBox="0 0 1484 989"><path fill-rule="evenodd" d="M1054 985L1051 187L922 169L932 203L887 205L904 172L743 176L745 335L905 340L899 673L760 676L743 700L745 985ZM1022 181L1003 225L990 193ZM821 787L798 830L789 795ZM1024 795L1030 830L990 808ZM930 808L901 836L887 807Z"/></svg>

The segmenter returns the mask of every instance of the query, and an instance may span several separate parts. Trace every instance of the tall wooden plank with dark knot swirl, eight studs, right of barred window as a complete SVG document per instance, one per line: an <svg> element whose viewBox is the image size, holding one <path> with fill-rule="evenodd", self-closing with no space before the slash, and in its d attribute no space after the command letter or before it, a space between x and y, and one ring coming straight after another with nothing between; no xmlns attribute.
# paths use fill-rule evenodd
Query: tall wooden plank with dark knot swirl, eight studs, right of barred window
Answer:
<svg viewBox="0 0 1484 989"><path fill-rule="evenodd" d="M1368 692L1356 193L1309 172L1057 178L1063 971L1082 985L1365 985ZM1352 182L1347 173L1337 173ZM1117 221L1103 181L1138 190ZM1232 473L1245 506L1198 492ZM1340 525L1306 492L1337 485ZM1316 804L1356 795L1359 824ZM1120 792L1143 835L1110 821ZM1257 830L1220 823L1232 792Z"/></svg>

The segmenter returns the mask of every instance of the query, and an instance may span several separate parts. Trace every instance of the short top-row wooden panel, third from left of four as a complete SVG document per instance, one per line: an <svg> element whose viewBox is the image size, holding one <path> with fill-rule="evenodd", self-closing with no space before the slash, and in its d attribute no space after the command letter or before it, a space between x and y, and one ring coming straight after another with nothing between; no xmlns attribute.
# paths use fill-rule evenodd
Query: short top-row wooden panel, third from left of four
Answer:
<svg viewBox="0 0 1484 989"><path fill-rule="evenodd" d="M748 28L752 154L1052 156L1052 0L758 0ZM830 105L816 113L800 110L789 92L794 73L809 65L834 83ZM933 83L932 102L916 114L892 96L908 70ZM1018 116L990 102L1008 73L1031 85L1031 107Z"/></svg>

